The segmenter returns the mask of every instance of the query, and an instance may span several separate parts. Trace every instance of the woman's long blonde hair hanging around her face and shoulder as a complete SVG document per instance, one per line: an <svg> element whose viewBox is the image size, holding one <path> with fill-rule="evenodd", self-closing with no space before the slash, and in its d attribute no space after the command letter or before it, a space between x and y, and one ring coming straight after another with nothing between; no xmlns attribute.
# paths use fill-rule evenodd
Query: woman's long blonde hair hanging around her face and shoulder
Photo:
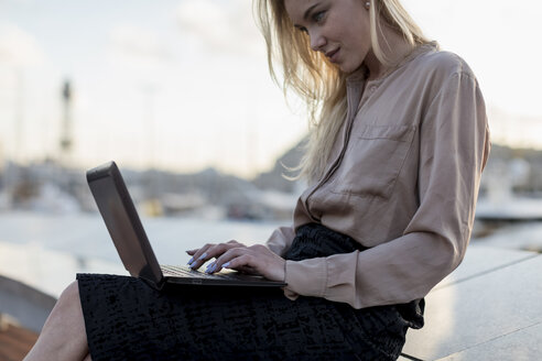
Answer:
<svg viewBox="0 0 542 361"><path fill-rule="evenodd" d="M382 26L380 20L413 46L429 42L399 0L372 0L369 9L371 45L382 64L390 64L390 61L378 37ZM293 178L316 182L324 174L332 146L346 119L347 74L330 64L321 52L311 48L308 36L291 22L284 0L254 0L253 10L265 39L271 77L282 87L284 96L293 90L308 108L310 133L305 153L299 166L290 171L299 171ZM277 65L282 67L281 81Z"/></svg>

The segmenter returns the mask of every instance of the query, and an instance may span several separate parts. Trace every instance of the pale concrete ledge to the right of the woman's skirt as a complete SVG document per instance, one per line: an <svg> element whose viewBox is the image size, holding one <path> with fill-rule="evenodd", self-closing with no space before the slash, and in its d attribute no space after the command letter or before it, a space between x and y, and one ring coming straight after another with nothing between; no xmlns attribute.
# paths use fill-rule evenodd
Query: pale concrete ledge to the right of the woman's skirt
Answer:
<svg viewBox="0 0 542 361"><path fill-rule="evenodd" d="M425 327L409 330L401 360L539 359L541 274L538 253L470 245L425 298Z"/></svg>

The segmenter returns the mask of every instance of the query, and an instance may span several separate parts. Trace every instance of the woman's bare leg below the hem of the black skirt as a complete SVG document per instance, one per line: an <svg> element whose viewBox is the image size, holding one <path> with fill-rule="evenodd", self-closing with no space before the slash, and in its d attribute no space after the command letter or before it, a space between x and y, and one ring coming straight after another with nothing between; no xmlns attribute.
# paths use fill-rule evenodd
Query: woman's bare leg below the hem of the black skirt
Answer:
<svg viewBox="0 0 542 361"><path fill-rule="evenodd" d="M64 289L24 361L89 360L77 281Z"/></svg>

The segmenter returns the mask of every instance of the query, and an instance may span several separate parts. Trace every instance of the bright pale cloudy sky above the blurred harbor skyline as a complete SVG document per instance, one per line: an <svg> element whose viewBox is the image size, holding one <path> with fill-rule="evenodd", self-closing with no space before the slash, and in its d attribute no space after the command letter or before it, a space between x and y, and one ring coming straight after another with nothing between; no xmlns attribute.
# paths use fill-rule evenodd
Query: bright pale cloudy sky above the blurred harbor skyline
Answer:
<svg viewBox="0 0 542 361"><path fill-rule="evenodd" d="M475 72L494 141L542 147L542 4L402 3ZM269 76L249 0L0 0L0 161L58 156L65 80L69 160L83 168L250 177L307 129Z"/></svg>

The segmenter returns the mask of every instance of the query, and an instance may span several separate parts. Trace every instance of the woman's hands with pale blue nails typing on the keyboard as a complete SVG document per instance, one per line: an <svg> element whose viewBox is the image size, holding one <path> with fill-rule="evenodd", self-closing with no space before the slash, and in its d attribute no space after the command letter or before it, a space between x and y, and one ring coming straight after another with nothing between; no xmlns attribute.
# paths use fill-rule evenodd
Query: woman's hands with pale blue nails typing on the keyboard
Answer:
<svg viewBox="0 0 542 361"><path fill-rule="evenodd" d="M207 266L207 273L220 271L223 267L241 271L251 274L259 274L271 281L284 281L285 260L273 253L262 244L246 247L236 241L220 244L206 244L198 250L187 251L193 255L193 270L197 270L202 264L212 258L216 261Z"/></svg>

